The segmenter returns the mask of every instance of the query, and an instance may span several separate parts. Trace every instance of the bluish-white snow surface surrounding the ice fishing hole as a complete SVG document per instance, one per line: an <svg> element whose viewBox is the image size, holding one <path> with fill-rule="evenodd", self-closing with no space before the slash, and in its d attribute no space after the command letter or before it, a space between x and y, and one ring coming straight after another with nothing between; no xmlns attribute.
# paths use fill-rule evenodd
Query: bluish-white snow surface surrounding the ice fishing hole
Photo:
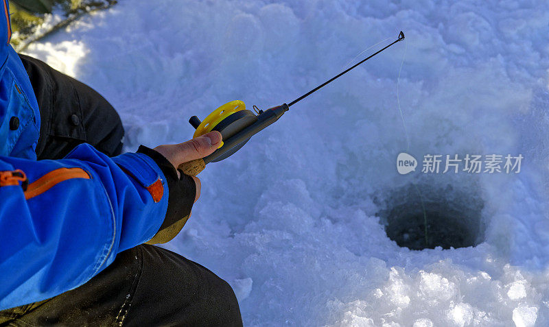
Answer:
<svg viewBox="0 0 549 327"><path fill-rule="evenodd" d="M167 247L226 279L246 326L549 326L546 1L121 0L27 52L111 101L130 151L189 139L190 116L233 99L291 101L400 30L209 165ZM399 152L525 159L518 174L399 175ZM480 244L388 239L379 213L417 197L412 182L478 213L462 221L485 226Z"/></svg>

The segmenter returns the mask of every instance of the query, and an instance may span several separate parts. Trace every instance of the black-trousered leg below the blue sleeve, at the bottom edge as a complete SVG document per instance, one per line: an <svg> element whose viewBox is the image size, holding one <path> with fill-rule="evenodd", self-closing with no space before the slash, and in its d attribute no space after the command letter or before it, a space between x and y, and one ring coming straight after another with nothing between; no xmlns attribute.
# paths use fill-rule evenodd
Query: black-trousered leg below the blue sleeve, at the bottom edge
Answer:
<svg viewBox="0 0 549 327"><path fill-rule="evenodd" d="M81 287L10 310L0 315L31 326L242 326L229 284L154 245L121 252Z"/></svg>

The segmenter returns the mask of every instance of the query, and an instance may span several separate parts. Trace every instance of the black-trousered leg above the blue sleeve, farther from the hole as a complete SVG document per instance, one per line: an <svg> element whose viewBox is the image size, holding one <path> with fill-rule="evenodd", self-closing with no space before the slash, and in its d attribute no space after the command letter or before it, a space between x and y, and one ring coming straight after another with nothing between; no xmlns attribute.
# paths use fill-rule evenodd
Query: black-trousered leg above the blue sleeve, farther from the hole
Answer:
<svg viewBox="0 0 549 327"><path fill-rule="evenodd" d="M95 90L36 58L19 55L40 109L38 159L59 159L80 143L108 156L122 149L124 128L116 110Z"/></svg>

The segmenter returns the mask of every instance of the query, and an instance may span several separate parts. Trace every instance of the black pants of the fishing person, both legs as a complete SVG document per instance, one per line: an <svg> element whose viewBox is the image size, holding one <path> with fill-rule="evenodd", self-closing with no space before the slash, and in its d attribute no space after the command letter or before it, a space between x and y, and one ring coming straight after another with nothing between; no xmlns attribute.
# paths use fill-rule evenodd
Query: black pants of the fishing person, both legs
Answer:
<svg viewBox="0 0 549 327"><path fill-rule="evenodd" d="M21 56L40 107L39 159L62 158L86 142L113 156L124 134L94 90ZM233 289L202 265L139 245L86 284L49 300L0 311L0 326L242 326Z"/></svg>

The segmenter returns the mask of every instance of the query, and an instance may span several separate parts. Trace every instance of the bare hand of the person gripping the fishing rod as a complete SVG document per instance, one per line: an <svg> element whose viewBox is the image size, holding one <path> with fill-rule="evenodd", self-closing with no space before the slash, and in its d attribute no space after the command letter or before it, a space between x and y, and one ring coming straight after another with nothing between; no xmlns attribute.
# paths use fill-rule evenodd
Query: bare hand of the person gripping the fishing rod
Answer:
<svg viewBox="0 0 549 327"><path fill-rule="evenodd" d="M221 133L213 131L193 138L187 142L159 145L158 147L155 147L154 150L162 154L168 161L172 162L172 165L177 169L177 167L184 162L204 158L205 156L212 154L218 149L221 141ZM177 171L177 174L179 175L179 171ZM198 178L193 176L193 179L196 184L196 197L194 198L194 202L196 202L198 197L200 197L201 184Z"/></svg>

